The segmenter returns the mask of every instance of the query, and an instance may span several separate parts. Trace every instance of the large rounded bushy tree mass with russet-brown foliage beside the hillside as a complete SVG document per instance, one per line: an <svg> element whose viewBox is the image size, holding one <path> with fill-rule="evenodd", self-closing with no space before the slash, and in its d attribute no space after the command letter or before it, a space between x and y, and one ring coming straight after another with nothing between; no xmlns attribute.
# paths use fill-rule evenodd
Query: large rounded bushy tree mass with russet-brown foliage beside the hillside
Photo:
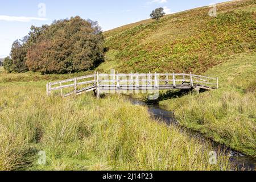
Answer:
<svg viewBox="0 0 256 182"><path fill-rule="evenodd" d="M79 16L31 27L11 51L14 71L71 73L96 67L104 57L104 38L97 22Z"/></svg>

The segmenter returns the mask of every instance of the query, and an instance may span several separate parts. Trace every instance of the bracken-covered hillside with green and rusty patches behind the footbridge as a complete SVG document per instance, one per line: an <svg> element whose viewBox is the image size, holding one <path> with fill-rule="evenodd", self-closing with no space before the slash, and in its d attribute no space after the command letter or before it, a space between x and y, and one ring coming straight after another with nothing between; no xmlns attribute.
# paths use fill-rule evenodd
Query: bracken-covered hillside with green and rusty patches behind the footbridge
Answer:
<svg viewBox="0 0 256 182"><path fill-rule="evenodd" d="M255 1L218 4L217 18L209 10L201 7L105 32L109 52L98 70L204 73L230 55L255 51Z"/></svg>

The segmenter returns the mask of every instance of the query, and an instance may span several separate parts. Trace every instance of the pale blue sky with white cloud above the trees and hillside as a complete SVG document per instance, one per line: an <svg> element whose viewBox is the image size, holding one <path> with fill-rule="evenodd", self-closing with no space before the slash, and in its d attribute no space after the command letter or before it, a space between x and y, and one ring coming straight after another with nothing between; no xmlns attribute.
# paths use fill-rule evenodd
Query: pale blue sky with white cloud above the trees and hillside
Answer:
<svg viewBox="0 0 256 182"><path fill-rule="evenodd" d="M14 40L21 39L27 35L31 25L41 26L42 24L51 24L55 19L64 19L79 15L84 19L97 20L105 31L147 19L151 11L157 7L164 7L166 13L170 14L224 1L2 0L0 2L0 58L9 55L11 44Z"/></svg>

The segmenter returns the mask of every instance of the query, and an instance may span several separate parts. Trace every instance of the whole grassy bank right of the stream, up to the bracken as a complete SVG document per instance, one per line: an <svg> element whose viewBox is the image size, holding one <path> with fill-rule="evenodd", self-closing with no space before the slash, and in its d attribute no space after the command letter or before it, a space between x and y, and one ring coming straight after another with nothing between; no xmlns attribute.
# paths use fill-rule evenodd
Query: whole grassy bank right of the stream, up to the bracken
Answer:
<svg viewBox="0 0 256 182"><path fill-rule="evenodd" d="M180 124L216 142L256 157L256 54L229 57L206 75L220 78L220 89L160 102Z"/></svg>

